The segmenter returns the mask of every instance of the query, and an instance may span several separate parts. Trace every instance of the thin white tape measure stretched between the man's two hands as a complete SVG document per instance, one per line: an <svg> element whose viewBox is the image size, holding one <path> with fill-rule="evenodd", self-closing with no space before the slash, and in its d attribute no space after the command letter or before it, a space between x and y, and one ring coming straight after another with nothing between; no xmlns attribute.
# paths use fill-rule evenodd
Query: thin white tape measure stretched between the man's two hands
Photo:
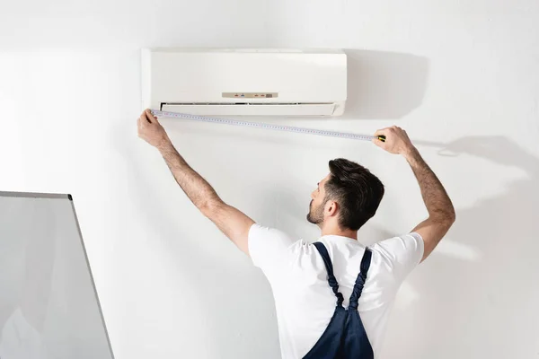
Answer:
<svg viewBox="0 0 539 359"><path fill-rule="evenodd" d="M220 124L225 124L225 125L259 127L259 128L275 129L279 131L296 132L296 133L301 133L301 134L350 138L353 140L363 140L363 141L372 141L373 139L377 138L380 141L385 142L385 136L358 135L358 134L350 134L346 132L326 131L326 130L320 130L320 129L314 129L314 128L302 128L302 127L292 127L292 126L284 126L284 125L271 125L271 124L265 124L265 123L260 123L260 122L238 121L236 119L228 119L228 118L208 118L206 116L190 115L187 113L179 113L179 112L160 111L158 109L150 109L150 111L155 117L158 117L158 118L185 118L185 119L192 119L195 121L213 122L213 123L220 123Z"/></svg>

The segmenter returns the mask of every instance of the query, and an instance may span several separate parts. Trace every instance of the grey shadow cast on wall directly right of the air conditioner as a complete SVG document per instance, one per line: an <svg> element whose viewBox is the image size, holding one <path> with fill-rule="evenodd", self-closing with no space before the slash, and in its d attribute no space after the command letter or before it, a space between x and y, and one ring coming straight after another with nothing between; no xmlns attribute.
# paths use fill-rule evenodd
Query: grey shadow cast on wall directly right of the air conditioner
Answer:
<svg viewBox="0 0 539 359"><path fill-rule="evenodd" d="M346 49L348 101L340 118L396 119L420 106L429 59L386 51Z"/></svg>

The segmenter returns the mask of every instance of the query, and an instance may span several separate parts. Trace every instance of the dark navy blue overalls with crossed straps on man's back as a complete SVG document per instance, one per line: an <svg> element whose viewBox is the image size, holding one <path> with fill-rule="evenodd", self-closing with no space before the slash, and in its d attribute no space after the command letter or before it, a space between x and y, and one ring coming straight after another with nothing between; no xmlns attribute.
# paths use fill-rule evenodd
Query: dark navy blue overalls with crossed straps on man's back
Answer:
<svg viewBox="0 0 539 359"><path fill-rule="evenodd" d="M356 285L354 285L350 296L349 309L344 309L342 306L344 298L339 293L339 284L333 276L333 265L328 250L319 241L313 244L320 252L328 271L328 283L337 296L337 307L328 328L325 329L322 337L318 339L309 353L304 356L304 359L373 359L373 348L368 341L367 333L358 313L358 299L361 296L363 285L365 285L372 252L365 249L358 279L356 279Z"/></svg>

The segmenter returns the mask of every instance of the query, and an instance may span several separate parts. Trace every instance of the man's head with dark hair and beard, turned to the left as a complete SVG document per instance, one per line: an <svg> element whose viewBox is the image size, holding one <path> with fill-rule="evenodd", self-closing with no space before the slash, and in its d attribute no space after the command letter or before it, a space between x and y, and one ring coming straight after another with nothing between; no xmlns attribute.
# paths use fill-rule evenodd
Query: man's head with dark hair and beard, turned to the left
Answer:
<svg viewBox="0 0 539 359"><path fill-rule="evenodd" d="M343 158L329 163L330 173L311 193L307 221L336 221L341 230L358 231L373 215L384 197L384 185L365 167Z"/></svg>

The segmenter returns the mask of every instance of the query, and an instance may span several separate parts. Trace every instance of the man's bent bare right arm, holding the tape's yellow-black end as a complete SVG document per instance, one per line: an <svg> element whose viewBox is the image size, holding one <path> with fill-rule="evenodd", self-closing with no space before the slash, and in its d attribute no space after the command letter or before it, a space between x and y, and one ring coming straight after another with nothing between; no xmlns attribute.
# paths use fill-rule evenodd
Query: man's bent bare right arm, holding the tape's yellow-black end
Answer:
<svg viewBox="0 0 539 359"><path fill-rule="evenodd" d="M376 131L375 136L385 136L385 142L378 139L373 142L384 148L389 153L401 154L411 166L418 183L420 184L421 196L429 212L429 218L418 224L412 232L417 232L425 242L423 258L436 248L437 244L455 223L455 208L451 199L447 196L446 189L442 186L437 176L429 165L421 158L420 152L411 144L406 131L400 127L389 127Z"/></svg>

